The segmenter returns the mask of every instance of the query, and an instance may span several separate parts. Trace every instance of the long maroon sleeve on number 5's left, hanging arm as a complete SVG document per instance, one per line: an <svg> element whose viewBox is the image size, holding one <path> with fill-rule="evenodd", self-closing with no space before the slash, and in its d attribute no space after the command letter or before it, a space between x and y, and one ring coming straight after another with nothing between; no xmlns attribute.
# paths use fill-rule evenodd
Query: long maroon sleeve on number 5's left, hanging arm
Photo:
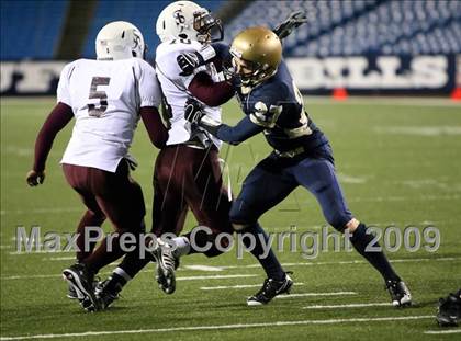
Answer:
<svg viewBox="0 0 461 341"><path fill-rule="evenodd" d="M57 133L59 133L72 117L72 109L69 105L61 102L56 104L43 124L35 140L33 170L43 171L45 169L46 158L48 157Z"/></svg>

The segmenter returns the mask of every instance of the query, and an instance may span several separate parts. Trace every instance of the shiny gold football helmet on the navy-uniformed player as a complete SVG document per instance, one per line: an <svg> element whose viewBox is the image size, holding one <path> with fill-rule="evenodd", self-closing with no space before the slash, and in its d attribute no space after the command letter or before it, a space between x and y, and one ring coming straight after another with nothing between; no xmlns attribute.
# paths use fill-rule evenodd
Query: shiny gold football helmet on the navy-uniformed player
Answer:
<svg viewBox="0 0 461 341"><path fill-rule="evenodd" d="M231 45L234 73L245 87L254 87L277 72L282 60L282 44L263 26L241 31Z"/></svg>

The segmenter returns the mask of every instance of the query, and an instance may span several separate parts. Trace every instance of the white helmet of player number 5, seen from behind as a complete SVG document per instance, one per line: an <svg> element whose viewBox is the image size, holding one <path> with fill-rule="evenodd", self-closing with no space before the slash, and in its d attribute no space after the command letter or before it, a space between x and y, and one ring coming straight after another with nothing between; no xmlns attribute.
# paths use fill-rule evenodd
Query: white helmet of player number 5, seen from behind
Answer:
<svg viewBox="0 0 461 341"><path fill-rule="evenodd" d="M143 58L146 52L140 31L126 21L114 21L98 33L95 39L98 60Z"/></svg>

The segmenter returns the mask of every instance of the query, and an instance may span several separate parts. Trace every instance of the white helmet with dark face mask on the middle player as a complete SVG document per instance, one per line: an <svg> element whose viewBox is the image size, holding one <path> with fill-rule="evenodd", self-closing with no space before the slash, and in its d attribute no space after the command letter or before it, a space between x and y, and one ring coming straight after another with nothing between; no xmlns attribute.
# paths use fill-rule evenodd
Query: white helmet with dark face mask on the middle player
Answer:
<svg viewBox="0 0 461 341"><path fill-rule="evenodd" d="M223 39L221 21L192 1L176 1L158 15L156 32L161 42L190 39L202 44Z"/></svg>

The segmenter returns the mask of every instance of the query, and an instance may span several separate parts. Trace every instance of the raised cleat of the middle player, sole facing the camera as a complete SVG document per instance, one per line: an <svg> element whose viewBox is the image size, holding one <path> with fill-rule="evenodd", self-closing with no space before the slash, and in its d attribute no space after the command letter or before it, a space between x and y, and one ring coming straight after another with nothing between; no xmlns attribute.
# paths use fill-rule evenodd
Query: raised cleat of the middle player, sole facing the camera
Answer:
<svg viewBox="0 0 461 341"><path fill-rule="evenodd" d="M161 241L157 240L157 246L151 251L151 255L157 263L156 281L160 289L170 295L176 289L175 270L178 264L177 257L173 254L172 248Z"/></svg>

